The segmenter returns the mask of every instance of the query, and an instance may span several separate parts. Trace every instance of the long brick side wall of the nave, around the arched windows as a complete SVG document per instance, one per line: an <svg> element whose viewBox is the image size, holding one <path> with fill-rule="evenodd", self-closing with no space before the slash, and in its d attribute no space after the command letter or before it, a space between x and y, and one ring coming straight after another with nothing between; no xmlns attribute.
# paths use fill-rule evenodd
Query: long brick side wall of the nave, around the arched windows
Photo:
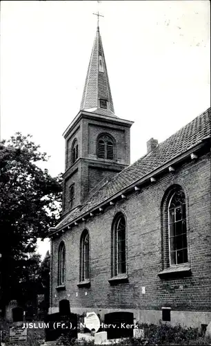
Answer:
<svg viewBox="0 0 211 346"><path fill-rule="evenodd" d="M161 279L161 201L170 185L179 184L188 203L190 277ZM117 212L126 219L128 283L114 286L111 277L111 226ZM81 233L90 234L90 288L78 287ZM105 309L154 309L177 311L211 309L210 256L210 154L184 164L156 183L133 192L128 199L110 206L53 241L52 306L67 298L70 307ZM66 290L57 291L57 253L61 239L66 244ZM141 287L145 286L145 294ZM85 295L87 292L87 295ZM57 297L55 298L55 295Z"/></svg>

